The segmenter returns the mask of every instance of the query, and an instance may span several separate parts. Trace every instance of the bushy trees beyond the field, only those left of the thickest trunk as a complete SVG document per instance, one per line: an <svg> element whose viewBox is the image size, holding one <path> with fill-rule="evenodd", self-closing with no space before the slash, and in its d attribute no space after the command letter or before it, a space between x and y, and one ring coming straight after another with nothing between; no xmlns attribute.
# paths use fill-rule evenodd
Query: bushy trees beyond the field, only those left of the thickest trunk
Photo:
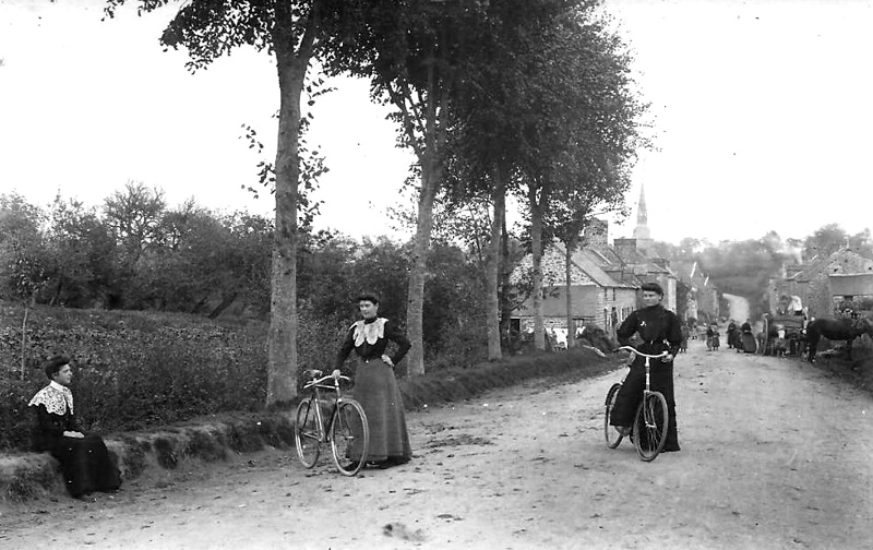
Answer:
<svg viewBox="0 0 873 550"><path fill-rule="evenodd" d="M25 306L182 311L217 316L241 299L268 309L273 224L216 215L128 182L98 210L0 195L0 296ZM255 312L258 314L259 312Z"/></svg>

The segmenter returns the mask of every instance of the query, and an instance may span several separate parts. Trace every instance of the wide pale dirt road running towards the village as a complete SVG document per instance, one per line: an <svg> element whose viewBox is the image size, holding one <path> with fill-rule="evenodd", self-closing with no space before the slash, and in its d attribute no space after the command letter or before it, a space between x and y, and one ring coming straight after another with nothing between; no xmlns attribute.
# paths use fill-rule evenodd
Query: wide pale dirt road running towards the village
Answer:
<svg viewBox="0 0 873 550"><path fill-rule="evenodd" d="M873 548L873 399L788 359L677 363L681 453L603 444L622 371L409 416L416 457L344 478L239 457L0 515L3 549Z"/></svg>

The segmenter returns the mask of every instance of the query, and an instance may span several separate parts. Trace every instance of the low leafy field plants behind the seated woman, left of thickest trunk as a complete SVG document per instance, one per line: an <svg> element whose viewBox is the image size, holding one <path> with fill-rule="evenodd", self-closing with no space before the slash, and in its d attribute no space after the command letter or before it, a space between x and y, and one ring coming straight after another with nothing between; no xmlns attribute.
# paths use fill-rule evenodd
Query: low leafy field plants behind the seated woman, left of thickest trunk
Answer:
<svg viewBox="0 0 873 550"><path fill-rule="evenodd" d="M48 383L45 360L73 358L76 416L97 431L137 430L222 410L254 410L265 388L262 323L212 323L183 315L37 308L26 376L20 308L0 308L0 449L26 446L27 402Z"/></svg>

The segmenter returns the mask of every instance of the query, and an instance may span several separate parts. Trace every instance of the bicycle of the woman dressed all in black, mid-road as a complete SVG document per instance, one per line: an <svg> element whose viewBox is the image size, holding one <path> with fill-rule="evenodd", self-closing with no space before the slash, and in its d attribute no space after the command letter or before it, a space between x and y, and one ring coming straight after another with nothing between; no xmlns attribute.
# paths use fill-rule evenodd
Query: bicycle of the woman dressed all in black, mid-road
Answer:
<svg viewBox="0 0 873 550"><path fill-rule="evenodd" d="M667 399L660 392L653 392L649 390L649 361L651 359L660 359L668 355L668 352L662 351L661 354L653 356L643 354L631 346L622 346L619 349L624 349L646 358L646 385L643 390L643 400L639 402L639 405L636 407L636 414L634 415L631 441L634 442L639 457L645 462L651 462L661 452L665 443L667 443L669 416ZM607 416L603 420L603 431L609 449L618 447L621 440L624 438L622 432L609 423L609 418L612 415L612 409L615 406L615 399L618 398L622 383L624 383L624 380L612 384L612 387L610 387L607 393Z"/></svg>

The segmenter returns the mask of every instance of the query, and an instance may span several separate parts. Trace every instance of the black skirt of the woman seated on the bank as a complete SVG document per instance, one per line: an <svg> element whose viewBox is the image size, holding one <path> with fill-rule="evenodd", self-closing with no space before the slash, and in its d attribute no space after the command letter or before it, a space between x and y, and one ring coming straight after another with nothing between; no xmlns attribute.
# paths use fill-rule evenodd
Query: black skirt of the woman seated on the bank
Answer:
<svg viewBox="0 0 873 550"><path fill-rule="evenodd" d="M121 476L109 457L109 451L97 434L84 438L53 438L48 450L61 463L63 480L71 497L94 491L115 491Z"/></svg>

